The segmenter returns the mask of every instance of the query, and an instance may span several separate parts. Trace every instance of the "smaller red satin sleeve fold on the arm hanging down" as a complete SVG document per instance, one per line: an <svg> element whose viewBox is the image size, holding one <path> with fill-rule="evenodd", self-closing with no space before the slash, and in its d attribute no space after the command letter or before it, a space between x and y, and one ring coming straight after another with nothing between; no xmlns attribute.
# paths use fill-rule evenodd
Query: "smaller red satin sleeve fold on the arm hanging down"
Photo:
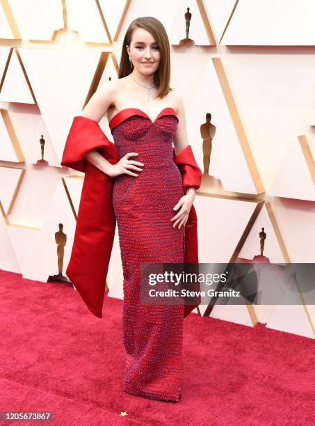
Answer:
<svg viewBox="0 0 315 426"><path fill-rule="evenodd" d="M189 187L200 188L202 171L195 161L191 145L187 145L178 154L175 154L175 150L173 150L173 159L181 172L185 191Z"/></svg>

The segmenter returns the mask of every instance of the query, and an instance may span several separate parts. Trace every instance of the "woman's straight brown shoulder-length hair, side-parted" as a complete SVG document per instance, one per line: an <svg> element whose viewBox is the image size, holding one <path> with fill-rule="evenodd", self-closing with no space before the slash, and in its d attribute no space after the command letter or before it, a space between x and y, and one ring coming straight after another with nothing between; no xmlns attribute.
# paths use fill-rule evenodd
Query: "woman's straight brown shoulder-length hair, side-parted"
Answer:
<svg viewBox="0 0 315 426"><path fill-rule="evenodd" d="M130 46L132 34L136 28L143 28L152 34L160 51L159 68L154 72L154 78L157 83L158 93L156 97L164 97L172 88L170 87L170 42L168 34L159 19L152 16L138 17L129 25L124 42L122 43L122 54L120 56L120 66L118 78L126 77L132 71L129 57L126 50L126 45Z"/></svg>

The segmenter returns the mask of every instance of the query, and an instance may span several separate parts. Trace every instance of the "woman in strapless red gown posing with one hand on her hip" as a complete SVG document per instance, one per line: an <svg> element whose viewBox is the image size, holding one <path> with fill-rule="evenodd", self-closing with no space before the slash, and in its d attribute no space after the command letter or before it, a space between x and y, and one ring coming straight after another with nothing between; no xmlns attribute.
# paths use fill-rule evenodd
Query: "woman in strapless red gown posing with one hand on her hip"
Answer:
<svg viewBox="0 0 315 426"><path fill-rule="evenodd" d="M113 181L113 212L124 274L122 388L133 395L177 402L181 396L184 308L140 303L143 262L189 261L185 227L194 212L195 189L200 187L202 175L188 145L183 102L169 81L170 47L163 25L154 17L135 19L124 37L118 80L99 88L81 117L74 119L61 164L86 171L88 161ZM116 160L113 144L97 125L105 113ZM104 152L111 152L108 159ZM184 181L179 164L186 166ZM84 185L88 185L86 181L91 182L90 175L86 174ZM95 192L102 194L99 189L90 191L93 196ZM86 215L91 210L90 204ZM104 206L102 213L104 216ZM76 235L78 222L79 216ZM80 244L74 245L77 250ZM76 253L73 249L72 263L78 265ZM70 267L70 276L68 270ZM78 290L84 299L86 290Z"/></svg>

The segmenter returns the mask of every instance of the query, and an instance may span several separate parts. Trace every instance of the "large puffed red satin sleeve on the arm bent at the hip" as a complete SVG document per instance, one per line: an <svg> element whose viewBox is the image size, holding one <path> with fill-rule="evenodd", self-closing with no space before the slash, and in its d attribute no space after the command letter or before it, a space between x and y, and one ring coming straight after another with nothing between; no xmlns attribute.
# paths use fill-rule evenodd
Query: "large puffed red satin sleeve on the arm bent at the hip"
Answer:
<svg viewBox="0 0 315 426"><path fill-rule="evenodd" d="M85 173L88 161L85 156L93 149L98 149L111 164L117 163L115 143L109 141L99 124L90 118L74 117L60 164Z"/></svg>

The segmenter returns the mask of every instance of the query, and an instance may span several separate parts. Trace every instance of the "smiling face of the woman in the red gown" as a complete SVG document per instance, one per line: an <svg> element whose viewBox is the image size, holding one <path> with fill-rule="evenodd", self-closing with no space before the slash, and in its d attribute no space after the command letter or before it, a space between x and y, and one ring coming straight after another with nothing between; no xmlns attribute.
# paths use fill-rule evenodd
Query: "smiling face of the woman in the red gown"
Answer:
<svg viewBox="0 0 315 426"><path fill-rule="evenodd" d="M149 31L143 28L134 30L130 46L127 48L134 69L141 74L153 74L160 63L160 50L153 36Z"/></svg>

